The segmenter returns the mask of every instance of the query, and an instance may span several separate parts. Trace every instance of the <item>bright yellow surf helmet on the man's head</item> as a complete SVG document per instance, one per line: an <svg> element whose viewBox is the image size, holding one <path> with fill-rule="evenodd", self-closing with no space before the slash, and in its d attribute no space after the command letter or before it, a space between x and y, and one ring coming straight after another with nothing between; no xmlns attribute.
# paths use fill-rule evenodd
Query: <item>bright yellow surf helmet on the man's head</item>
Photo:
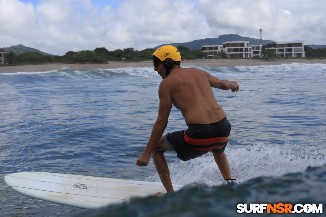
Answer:
<svg viewBox="0 0 326 217"><path fill-rule="evenodd" d="M172 45L164 45L156 51L154 51L152 55L153 63L157 61L165 61L166 59L171 59L174 62L179 62L177 65L181 63L181 55L177 48L173 47ZM173 64L174 65L174 64Z"/></svg>

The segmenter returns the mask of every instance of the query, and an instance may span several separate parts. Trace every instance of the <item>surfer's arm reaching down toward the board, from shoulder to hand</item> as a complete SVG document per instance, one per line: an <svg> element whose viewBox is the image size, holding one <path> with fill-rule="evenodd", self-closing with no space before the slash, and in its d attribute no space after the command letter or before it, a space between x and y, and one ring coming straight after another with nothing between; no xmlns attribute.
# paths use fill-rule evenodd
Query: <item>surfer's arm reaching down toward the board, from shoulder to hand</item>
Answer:
<svg viewBox="0 0 326 217"><path fill-rule="evenodd" d="M170 87L166 82L161 82L158 89L158 96L160 99L160 104L157 119L153 126L152 134L146 148L137 159L136 165L138 166L147 166L149 159L151 158L151 153L153 152L155 145L162 137L168 124L168 119L172 108L172 98Z"/></svg>

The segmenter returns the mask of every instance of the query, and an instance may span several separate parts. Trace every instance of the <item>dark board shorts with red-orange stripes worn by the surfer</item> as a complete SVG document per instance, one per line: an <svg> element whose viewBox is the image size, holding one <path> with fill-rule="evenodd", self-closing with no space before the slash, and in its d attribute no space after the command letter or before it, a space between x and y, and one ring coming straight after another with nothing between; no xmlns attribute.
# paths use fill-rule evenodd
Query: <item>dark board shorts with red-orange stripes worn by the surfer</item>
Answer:
<svg viewBox="0 0 326 217"><path fill-rule="evenodd" d="M231 124L225 117L216 123L190 124L187 130L168 133L165 141L178 158L187 161L207 152L224 152L230 131Z"/></svg>

